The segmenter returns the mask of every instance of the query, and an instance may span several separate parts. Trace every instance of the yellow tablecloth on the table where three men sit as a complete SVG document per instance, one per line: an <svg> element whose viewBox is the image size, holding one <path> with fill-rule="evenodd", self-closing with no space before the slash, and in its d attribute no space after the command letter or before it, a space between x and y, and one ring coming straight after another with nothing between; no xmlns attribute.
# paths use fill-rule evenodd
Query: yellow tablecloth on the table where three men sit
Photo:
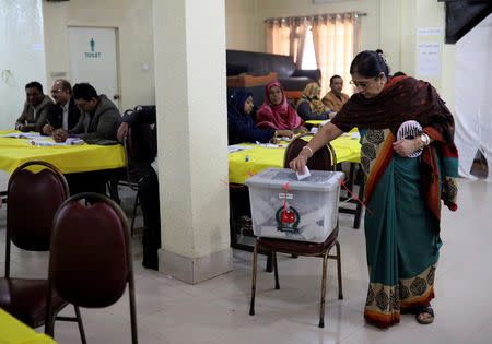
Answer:
<svg viewBox="0 0 492 344"><path fill-rule="evenodd" d="M19 131L0 131L0 135ZM51 140L51 139L47 139ZM0 137L0 169L14 171L21 164L43 161L58 167L63 174L124 167L125 149L116 145L33 146L27 139Z"/></svg>

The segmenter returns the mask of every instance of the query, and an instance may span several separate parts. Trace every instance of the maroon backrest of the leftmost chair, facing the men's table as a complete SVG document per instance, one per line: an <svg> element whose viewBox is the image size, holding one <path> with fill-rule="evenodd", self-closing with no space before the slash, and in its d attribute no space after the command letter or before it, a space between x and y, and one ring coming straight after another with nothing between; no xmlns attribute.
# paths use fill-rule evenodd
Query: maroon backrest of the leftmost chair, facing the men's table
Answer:
<svg viewBox="0 0 492 344"><path fill-rule="evenodd" d="M39 173L26 169L33 165L46 168ZM51 164L35 161L19 166L8 186L5 253L10 253L10 240L24 250L49 250L52 218L69 195L67 180Z"/></svg>

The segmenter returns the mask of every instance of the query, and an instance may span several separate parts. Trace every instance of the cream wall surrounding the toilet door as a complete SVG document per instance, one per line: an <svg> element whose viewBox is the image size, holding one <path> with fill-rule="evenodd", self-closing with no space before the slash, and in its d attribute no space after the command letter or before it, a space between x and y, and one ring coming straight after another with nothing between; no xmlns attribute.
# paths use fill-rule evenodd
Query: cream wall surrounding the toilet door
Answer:
<svg viewBox="0 0 492 344"><path fill-rule="evenodd" d="M49 86L59 73L70 81L68 26L116 27L120 110L155 104L152 0L45 1L43 15Z"/></svg>

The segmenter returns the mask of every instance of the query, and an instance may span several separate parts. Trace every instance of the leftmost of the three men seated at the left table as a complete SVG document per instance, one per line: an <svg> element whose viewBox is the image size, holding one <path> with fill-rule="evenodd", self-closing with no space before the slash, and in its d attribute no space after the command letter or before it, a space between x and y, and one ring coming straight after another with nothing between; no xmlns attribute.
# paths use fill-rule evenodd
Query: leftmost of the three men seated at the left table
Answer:
<svg viewBox="0 0 492 344"><path fill-rule="evenodd" d="M25 95L24 109L15 122L15 130L40 132L54 103L49 96L43 94L43 86L37 81L25 85Z"/></svg>

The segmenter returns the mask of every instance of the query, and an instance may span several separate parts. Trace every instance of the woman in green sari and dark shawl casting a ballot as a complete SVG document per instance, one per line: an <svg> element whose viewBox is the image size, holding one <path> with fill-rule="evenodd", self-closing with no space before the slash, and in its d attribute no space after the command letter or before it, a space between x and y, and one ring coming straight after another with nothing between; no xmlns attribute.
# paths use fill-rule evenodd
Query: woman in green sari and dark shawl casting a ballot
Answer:
<svg viewBox="0 0 492 344"><path fill-rule="evenodd" d="M350 73L359 92L290 166L304 171L314 152L359 128L371 211L364 221L370 274L364 317L387 328L400 321L400 312L412 312L420 323L431 323L441 199L457 209L453 116L431 84L391 78L380 50L360 52ZM400 129L409 122L417 128L412 135Z"/></svg>

